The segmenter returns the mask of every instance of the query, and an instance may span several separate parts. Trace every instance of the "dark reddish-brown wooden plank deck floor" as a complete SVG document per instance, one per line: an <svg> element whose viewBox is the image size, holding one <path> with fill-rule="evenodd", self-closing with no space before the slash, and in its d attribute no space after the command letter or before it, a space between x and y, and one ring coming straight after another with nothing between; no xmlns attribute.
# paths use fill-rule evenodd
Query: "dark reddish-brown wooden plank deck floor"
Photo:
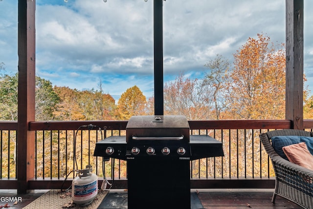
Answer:
<svg viewBox="0 0 313 209"><path fill-rule="evenodd" d="M277 197L275 204L272 204L270 201L273 189L200 189L197 191L204 209L301 209L281 197ZM0 206L7 203L10 209L22 209L45 192L46 190L35 190L27 194L17 194L16 190L0 189ZM22 202L13 205L14 202L6 202L3 199L5 197L21 197Z"/></svg>

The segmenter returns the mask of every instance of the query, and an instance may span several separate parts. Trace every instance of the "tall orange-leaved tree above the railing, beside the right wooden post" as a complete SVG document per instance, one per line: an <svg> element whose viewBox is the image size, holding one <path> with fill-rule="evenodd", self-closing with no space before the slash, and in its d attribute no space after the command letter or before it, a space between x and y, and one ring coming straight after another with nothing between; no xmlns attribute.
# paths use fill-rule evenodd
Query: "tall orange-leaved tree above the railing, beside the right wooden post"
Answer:
<svg viewBox="0 0 313 209"><path fill-rule="evenodd" d="M234 69L224 84L234 119L284 118L285 66L284 45L277 49L263 34L237 50Z"/></svg>

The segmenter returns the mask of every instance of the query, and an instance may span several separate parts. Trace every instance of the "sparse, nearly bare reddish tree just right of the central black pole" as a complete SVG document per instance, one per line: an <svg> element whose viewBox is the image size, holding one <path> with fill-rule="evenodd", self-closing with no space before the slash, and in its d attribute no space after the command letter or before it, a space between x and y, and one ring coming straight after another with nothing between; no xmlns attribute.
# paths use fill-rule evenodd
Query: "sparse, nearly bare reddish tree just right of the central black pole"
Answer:
<svg viewBox="0 0 313 209"><path fill-rule="evenodd" d="M180 74L164 86L164 113L183 115L189 120L207 119L210 95L198 79L184 78Z"/></svg>

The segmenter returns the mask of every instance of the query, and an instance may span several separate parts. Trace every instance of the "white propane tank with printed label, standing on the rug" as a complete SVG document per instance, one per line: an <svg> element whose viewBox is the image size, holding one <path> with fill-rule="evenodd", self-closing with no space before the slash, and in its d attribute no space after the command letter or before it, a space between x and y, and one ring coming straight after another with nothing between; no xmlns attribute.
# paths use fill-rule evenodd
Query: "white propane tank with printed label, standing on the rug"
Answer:
<svg viewBox="0 0 313 209"><path fill-rule="evenodd" d="M72 200L77 205L89 205L98 194L98 177L92 173L92 166L78 170L72 182Z"/></svg>

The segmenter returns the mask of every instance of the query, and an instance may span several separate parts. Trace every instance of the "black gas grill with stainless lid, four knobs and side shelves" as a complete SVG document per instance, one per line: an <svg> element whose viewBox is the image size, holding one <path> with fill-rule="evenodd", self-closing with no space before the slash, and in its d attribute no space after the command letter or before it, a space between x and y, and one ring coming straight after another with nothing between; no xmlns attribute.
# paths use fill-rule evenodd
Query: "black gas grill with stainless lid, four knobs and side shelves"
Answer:
<svg viewBox="0 0 313 209"><path fill-rule="evenodd" d="M129 209L190 209L190 161L224 153L221 142L189 132L185 116L133 116L126 137L97 142L94 156L127 161Z"/></svg>

